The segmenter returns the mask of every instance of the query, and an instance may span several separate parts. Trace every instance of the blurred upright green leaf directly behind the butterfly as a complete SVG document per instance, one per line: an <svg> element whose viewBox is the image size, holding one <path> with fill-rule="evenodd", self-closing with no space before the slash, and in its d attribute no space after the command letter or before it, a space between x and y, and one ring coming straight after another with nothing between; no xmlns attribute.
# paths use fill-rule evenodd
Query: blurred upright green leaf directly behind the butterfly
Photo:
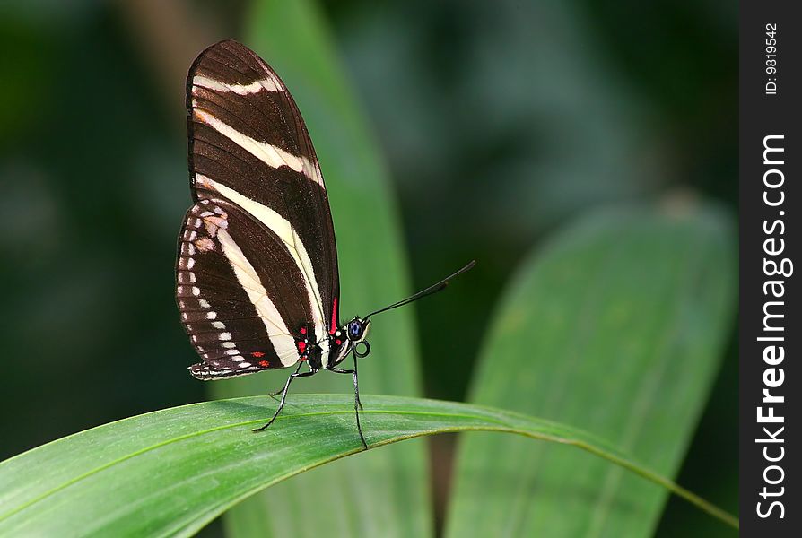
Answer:
<svg viewBox="0 0 802 538"><path fill-rule="evenodd" d="M256 2L245 44L281 75L309 126L335 222L343 317L405 296L405 256L387 170L317 6L310 0ZM377 319L370 344L372 354L360 362L362 390L419 395L412 310ZM288 374L214 385L213 394L264 395L283 386ZM292 391L341 393L351 387L351 377L324 371L299 379ZM227 515L229 534L426 536L432 510L425 457L425 445L415 442L304 474Z"/></svg>

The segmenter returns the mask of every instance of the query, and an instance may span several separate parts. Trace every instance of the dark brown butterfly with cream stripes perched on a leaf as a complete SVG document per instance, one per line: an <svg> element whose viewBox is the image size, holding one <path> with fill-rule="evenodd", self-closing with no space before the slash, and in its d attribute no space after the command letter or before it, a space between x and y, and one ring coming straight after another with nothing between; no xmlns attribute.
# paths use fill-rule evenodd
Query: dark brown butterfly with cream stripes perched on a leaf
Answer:
<svg viewBox="0 0 802 538"><path fill-rule="evenodd" d="M353 376L370 352L370 317L442 290L450 278L365 317L339 323L334 224L309 133L277 74L249 48L206 48L187 77L194 205L179 237L176 296L202 361L192 376L222 379L295 367ZM353 369L340 369L353 354ZM301 372L303 364L307 371ZM276 392L274 395L279 394Z"/></svg>

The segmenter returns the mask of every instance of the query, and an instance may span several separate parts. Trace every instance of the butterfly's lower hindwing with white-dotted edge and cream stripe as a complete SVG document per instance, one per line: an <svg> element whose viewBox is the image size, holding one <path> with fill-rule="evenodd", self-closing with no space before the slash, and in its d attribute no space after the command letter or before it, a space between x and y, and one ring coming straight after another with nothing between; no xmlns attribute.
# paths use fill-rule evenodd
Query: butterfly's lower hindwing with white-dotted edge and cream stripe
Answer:
<svg viewBox="0 0 802 538"><path fill-rule="evenodd" d="M177 296L190 341L204 359L192 369L200 374L197 377L283 368L299 359L293 333L299 334L311 306L293 303L289 326L278 315L270 298L281 305L282 296L292 293L292 285L273 278L266 280L268 290L257 272L281 259L285 247L278 239L273 241L277 252L271 252L267 241L248 247L260 233L264 231L257 222L222 200L202 201L187 212L179 243ZM250 256L244 254L243 246ZM278 277L289 280L301 275L287 272Z"/></svg>

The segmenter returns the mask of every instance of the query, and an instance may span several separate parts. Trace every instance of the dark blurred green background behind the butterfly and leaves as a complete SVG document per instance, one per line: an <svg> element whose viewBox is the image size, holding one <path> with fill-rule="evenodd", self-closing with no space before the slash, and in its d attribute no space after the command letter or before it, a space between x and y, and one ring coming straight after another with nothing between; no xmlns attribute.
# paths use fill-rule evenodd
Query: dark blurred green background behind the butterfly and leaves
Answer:
<svg viewBox="0 0 802 538"><path fill-rule="evenodd" d="M737 4L321 5L389 164L414 288L480 261L469 285L415 309L426 395L465 397L504 283L554 230L608 204L737 211ZM240 37L245 13L247 2L0 4L0 459L205 398L173 299L184 82L202 48ZM732 339L677 477L731 509L737 453L720 447L737 442L736 350ZM450 442L432 441L435 461ZM661 530L686 509L672 499Z"/></svg>

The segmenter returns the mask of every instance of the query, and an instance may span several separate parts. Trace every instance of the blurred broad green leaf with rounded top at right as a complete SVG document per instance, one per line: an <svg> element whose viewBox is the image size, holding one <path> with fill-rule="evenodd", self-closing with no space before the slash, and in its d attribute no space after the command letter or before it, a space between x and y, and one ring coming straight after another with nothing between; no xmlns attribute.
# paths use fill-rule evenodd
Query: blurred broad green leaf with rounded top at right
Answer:
<svg viewBox="0 0 802 538"><path fill-rule="evenodd" d="M673 476L719 368L735 264L731 222L710 208L580 221L510 285L471 401L571 423ZM667 498L585 454L509 436L463 439L455 481L455 537L647 536Z"/></svg>

